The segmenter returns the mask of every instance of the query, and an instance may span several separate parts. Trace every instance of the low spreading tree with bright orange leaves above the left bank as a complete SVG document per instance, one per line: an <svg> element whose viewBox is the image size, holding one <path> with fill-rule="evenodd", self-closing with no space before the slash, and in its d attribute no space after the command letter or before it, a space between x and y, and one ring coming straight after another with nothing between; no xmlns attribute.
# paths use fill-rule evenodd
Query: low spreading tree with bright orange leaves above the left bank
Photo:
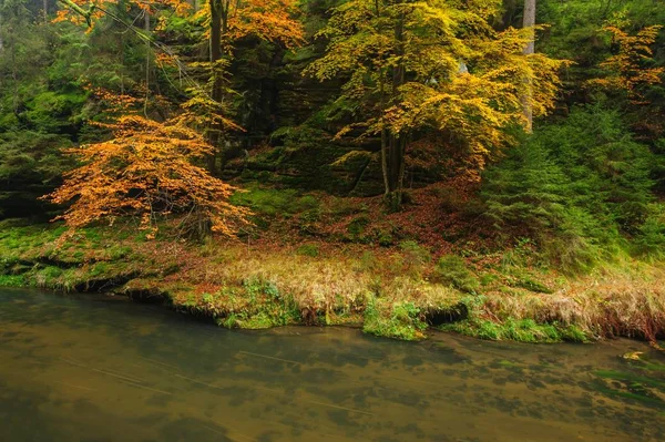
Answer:
<svg viewBox="0 0 665 442"><path fill-rule="evenodd" d="M82 165L44 196L57 204L72 202L55 219L76 228L136 217L149 237L170 215L190 235L212 230L233 237L248 225L248 210L228 202L236 188L194 164L212 150L197 132L177 121L158 123L136 115L104 125L113 138L69 150Z"/></svg>

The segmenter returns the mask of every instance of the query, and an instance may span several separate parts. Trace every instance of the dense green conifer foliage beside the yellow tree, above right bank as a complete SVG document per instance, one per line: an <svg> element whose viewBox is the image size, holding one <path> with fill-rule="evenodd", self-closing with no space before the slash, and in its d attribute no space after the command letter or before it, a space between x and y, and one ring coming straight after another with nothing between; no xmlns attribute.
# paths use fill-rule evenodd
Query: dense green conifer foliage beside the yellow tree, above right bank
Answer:
<svg viewBox="0 0 665 442"><path fill-rule="evenodd" d="M529 232L548 261L585 271L640 234L652 164L616 112L575 109L487 172L485 216L501 232Z"/></svg>

